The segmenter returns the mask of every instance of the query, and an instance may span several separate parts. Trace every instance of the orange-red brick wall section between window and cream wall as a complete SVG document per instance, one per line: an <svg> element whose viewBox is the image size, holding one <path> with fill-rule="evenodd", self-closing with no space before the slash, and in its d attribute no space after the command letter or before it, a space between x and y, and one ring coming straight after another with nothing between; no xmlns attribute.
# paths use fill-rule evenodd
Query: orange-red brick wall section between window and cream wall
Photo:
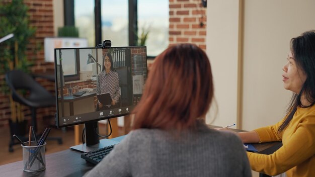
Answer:
<svg viewBox="0 0 315 177"><path fill-rule="evenodd" d="M200 0L170 0L171 44L194 43L206 49L206 8Z"/></svg>

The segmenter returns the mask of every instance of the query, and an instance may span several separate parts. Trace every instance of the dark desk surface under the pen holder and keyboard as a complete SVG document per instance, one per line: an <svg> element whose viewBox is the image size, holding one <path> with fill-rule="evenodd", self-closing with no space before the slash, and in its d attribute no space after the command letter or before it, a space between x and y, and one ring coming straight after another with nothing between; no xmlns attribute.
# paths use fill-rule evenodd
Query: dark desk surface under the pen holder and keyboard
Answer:
<svg viewBox="0 0 315 177"><path fill-rule="evenodd" d="M242 131L242 130L235 130ZM100 141L106 141L102 139ZM120 141L119 137L111 140ZM270 154L281 146L281 142L254 143L258 153ZM46 169L40 172L23 171L23 161L13 162L0 166L1 176L83 176L93 164L81 158L81 152L74 150L63 150L46 155Z"/></svg>

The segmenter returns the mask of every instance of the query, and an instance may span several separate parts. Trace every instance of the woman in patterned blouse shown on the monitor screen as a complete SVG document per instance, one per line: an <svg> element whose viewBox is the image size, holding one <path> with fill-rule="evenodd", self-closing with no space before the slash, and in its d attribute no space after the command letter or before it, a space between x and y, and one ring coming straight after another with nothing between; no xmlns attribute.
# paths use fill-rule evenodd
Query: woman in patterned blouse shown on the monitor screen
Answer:
<svg viewBox="0 0 315 177"><path fill-rule="evenodd" d="M109 93L111 97L111 103L103 105L98 101L97 111L106 110L109 108L116 108L120 97L119 93L119 77L118 73L114 71L113 58L110 53L103 55L102 71L97 77L96 95Z"/></svg>

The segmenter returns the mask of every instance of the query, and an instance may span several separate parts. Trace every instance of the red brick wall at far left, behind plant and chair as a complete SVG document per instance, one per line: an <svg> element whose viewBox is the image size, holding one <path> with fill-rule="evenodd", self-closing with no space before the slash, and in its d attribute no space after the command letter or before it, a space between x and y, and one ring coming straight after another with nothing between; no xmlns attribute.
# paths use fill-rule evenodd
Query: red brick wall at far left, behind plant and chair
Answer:
<svg viewBox="0 0 315 177"><path fill-rule="evenodd" d="M35 37L30 40L27 46L27 58L32 60L34 65L30 68L32 72L54 72L53 63L46 63L44 60L44 37L54 36L53 31L53 2L52 0L24 0L29 7L30 24L37 28ZM38 48L34 53L34 49ZM4 79L4 75L0 75ZM54 92L54 82L39 78L40 82L48 91ZM1 86L1 85L0 85ZM31 118L31 112L28 107L24 107L25 119ZM56 112L54 107L37 110L37 118L51 117ZM11 118L11 110L8 96L0 92L0 127L8 124Z"/></svg>

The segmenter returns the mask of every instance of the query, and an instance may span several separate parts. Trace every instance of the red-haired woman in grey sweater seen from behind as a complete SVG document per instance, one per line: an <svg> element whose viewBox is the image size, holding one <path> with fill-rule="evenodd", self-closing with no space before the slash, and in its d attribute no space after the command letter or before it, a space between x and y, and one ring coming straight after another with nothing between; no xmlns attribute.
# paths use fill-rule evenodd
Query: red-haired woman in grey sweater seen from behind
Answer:
<svg viewBox="0 0 315 177"><path fill-rule="evenodd" d="M87 176L251 176L241 139L205 124L212 100L206 53L170 46L154 59L133 130Z"/></svg>

